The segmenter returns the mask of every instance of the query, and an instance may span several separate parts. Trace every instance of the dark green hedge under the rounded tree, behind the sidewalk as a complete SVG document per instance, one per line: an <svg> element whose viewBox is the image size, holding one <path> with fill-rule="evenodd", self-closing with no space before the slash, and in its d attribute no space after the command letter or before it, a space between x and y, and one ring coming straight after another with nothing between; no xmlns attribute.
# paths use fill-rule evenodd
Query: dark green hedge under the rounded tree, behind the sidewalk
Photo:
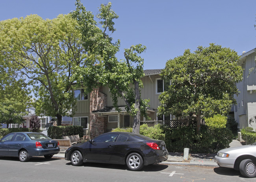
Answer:
<svg viewBox="0 0 256 182"><path fill-rule="evenodd" d="M216 153L219 149L227 148L233 135L229 129L201 126L197 134L196 126L191 123L188 126L178 128L165 128L165 145L169 152L183 152L189 148L190 152Z"/></svg>

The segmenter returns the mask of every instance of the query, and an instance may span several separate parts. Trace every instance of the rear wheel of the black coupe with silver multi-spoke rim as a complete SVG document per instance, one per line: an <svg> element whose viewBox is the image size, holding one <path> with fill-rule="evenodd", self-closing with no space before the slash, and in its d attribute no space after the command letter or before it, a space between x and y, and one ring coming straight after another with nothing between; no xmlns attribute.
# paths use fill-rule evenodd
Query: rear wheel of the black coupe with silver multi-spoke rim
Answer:
<svg viewBox="0 0 256 182"><path fill-rule="evenodd" d="M139 171L143 166L143 158L138 153L131 153L126 158L126 165L131 171Z"/></svg>

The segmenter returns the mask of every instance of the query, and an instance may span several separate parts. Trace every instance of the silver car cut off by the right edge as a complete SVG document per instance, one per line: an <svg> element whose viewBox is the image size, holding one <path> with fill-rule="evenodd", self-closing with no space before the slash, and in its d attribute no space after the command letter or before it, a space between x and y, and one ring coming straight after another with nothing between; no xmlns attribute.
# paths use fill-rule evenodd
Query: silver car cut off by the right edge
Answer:
<svg viewBox="0 0 256 182"><path fill-rule="evenodd" d="M241 175L256 177L256 142L241 147L222 149L214 158L221 167L234 168L239 170Z"/></svg>

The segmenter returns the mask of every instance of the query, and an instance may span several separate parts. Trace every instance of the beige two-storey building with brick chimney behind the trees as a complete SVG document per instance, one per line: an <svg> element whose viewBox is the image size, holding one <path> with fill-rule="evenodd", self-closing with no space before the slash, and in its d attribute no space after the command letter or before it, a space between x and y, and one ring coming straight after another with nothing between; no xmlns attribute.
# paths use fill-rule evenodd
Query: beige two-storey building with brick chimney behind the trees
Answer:
<svg viewBox="0 0 256 182"><path fill-rule="evenodd" d="M152 121L170 120L171 116L157 116L159 105L158 96L164 90L164 83L160 79L161 70L144 70L145 77L142 78L144 87L141 89L141 98L150 99L147 113ZM167 83L167 85L170 83ZM83 88L74 91L78 99L77 111L73 116L73 124L83 126L86 133L96 131L92 135L111 131L117 127L129 127L133 125L133 118L125 110L125 102L122 98L118 101L121 112L113 107L113 101L108 87L94 90L92 93L84 93ZM142 117L143 121L144 118Z"/></svg>

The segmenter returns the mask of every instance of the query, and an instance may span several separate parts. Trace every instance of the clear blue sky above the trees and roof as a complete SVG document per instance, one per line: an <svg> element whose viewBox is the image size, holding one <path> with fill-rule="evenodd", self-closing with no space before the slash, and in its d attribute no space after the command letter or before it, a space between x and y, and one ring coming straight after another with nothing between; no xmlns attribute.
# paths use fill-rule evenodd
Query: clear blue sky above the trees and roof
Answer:
<svg viewBox="0 0 256 182"><path fill-rule="evenodd" d="M100 4L112 3L119 15L114 40L123 49L134 44L147 47L144 69L161 69L169 59L213 42L237 51L256 47L256 0L82 0L94 15ZM37 14L56 18L74 10L75 0L1 0L0 20Z"/></svg>

